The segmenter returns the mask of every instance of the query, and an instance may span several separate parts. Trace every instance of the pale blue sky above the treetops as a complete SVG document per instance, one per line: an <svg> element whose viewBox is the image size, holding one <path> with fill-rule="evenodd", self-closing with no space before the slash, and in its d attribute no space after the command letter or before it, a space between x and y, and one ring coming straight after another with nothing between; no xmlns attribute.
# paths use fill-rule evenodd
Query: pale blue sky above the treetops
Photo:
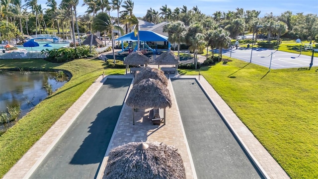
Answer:
<svg viewBox="0 0 318 179"><path fill-rule="evenodd" d="M58 4L61 0L56 0ZM111 1L111 0L109 0ZM123 0L124 1L124 0ZM176 7L186 5L190 10L194 6L206 14L211 15L216 11L228 12L229 10L236 11L236 8L243 8L246 10L260 11L259 17L273 12L274 16L280 15L282 12L290 10L293 14L303 12L304 14L314 13L318 14L318 0L133 0L133 13L137 17L146 15L148 9L152 8L160 12L160 7L165 4L171 10ZM47 0L38 0L42 4L42 8L46 8ZM83 0L79 0L78 14L83 15L87 6L81 6ZM121 9L122 10L122 9ZM117 11L111 11L112 16L117 16Z"/></svg>

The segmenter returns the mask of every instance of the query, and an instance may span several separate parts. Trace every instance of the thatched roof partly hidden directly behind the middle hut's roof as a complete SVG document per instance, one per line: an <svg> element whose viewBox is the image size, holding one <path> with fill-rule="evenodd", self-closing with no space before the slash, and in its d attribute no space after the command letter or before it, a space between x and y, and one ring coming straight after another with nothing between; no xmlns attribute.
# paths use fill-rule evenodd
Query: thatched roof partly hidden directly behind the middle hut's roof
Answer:
<svg viewBox="0 0 318 179"><path fill-rule="evenodd" d="M136 74L134 79L134 85L140 83L145 79L158 80L164 86L168 86L168 79L165 77L163 72L157 68L145 67L138 74Z"/></svg>

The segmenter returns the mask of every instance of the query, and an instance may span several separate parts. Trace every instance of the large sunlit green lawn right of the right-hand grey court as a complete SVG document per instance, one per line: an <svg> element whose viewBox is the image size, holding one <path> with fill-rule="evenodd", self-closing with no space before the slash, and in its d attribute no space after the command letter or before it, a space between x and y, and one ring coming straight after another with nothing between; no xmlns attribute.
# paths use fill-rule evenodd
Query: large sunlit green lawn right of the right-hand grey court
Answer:
<svg viewBox="0 0 318 179"><path fill-rule="evenodd" d="M291 178L317 179L318 68L268 73L266 67L232 60L200 73Z"/></svg>

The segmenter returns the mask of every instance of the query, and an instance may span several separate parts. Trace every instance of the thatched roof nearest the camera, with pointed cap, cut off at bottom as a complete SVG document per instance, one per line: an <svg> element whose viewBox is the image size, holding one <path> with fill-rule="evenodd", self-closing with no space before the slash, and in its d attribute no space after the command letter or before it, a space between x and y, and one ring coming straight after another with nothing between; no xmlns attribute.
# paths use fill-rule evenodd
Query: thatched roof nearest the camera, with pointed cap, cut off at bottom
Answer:
<svg viewBox="0 0 318 179"><path fill-rule="evenodd" d="M103 179L185 179L182 158L173 146L131 142L112 149Z"/></svg>

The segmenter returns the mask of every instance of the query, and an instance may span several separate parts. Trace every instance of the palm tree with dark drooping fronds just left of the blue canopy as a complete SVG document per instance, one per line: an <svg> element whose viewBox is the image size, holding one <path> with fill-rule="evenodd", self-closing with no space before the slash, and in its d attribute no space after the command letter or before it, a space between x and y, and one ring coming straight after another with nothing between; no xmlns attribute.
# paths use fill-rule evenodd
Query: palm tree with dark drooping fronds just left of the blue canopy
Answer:
<svg viewBox="0 0 318 179"><path fill-rule="evenodd" d="M112 49L113 49L113 57L114 63L116 63L115 51L114 51L114 36L113 36L113 29L117 29L119 31L123 31L121 27L118 25L114 26L112 24L110 16L106 12L99 12L93 20L93 29L98 31L104 31L110 33L111 35L111 42L112 42Z"/></svg>

